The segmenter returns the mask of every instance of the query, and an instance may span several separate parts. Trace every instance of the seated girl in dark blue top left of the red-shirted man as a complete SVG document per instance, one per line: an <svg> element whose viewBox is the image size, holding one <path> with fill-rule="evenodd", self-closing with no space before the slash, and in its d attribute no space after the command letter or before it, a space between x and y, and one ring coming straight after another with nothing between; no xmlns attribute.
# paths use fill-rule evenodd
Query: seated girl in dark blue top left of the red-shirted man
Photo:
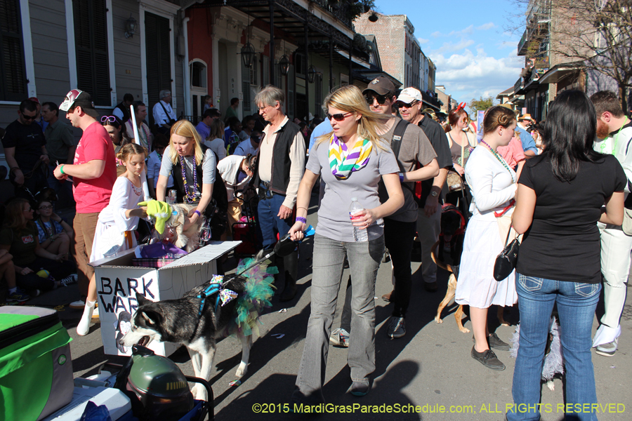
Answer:
<svg viewBox="0 0 632 421"><path fill-rule="evenodd" d="M36 211L39 215L35 220L39 245L44 250L54 255L60 254L64 260L68 260L72 227L59 215L53 213L53 203L49 201L38 201Z"/></svg>

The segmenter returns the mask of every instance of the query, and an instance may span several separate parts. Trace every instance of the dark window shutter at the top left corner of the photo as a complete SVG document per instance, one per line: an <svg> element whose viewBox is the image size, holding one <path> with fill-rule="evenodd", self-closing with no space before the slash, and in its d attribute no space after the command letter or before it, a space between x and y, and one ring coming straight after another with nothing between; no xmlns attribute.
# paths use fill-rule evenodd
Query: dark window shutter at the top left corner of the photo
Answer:
<svg viewBox="0 0 632 421"><path fill-rule="evenodd" d="M0 11L0 100L21 101L27 78L19 0L0 0Z"/></svg>

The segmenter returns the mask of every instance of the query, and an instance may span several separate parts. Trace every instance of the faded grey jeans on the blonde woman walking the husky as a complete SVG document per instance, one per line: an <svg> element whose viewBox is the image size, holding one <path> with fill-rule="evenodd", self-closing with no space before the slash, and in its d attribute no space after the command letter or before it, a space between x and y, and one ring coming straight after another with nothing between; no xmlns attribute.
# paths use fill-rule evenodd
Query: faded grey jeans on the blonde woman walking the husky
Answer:
<svg viewBox="0 0 632 421"><path fill-rule="evenodd" d="M312 262L311 313L301 366L292 401L324 403L322 386L327 369L329 335L342 281L345 256L353 278L351 328L347 354L353 382L369 382L375 370L375 279L384 253L384 236L362 243L345 243L316 234Z"/></svg>

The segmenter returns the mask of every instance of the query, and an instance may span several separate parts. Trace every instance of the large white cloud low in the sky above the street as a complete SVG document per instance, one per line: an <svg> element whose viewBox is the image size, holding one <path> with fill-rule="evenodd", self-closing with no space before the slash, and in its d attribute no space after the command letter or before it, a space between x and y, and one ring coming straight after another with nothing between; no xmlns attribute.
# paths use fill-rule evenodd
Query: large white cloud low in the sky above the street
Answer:
<svg viewBox="0 0 632 421"><path fill-rule="evenodd" d="M513 86L520 76L523 61L515 53L503 58L490 57L482 48L477 48L475 53L466 49L462 54L449 57L435 51L430 58L437 66L437 83L444 84L447 93L459 101L480 96L496 98Z"/></svg>

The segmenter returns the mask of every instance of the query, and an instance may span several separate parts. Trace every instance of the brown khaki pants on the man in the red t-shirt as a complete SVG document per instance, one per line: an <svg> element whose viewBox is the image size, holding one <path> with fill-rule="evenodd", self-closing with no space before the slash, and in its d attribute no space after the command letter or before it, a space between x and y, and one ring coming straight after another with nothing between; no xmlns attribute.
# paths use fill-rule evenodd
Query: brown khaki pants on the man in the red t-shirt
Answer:
<svg viewBox="0 0 632 421"><path fill-rule="evenodd" d="M72 222L74 236L70 250L74 260L77 261L77 283L79 283L79 293L81 300L86 300L88 296L88 285L94 274L94 269L90 262L90 254L92 253L92 243L94 241L94 232L96 231L99 213L77 213Z"/></svg>

